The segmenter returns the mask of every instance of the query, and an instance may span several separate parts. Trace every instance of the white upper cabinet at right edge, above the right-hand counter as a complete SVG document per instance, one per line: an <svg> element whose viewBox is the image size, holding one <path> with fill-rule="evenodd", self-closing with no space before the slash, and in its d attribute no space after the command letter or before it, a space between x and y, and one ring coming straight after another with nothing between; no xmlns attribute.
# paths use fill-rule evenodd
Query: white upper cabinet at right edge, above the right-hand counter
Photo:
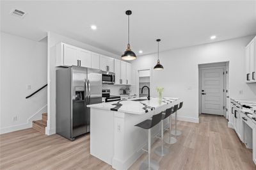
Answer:
<svg viewBox="0 0 256 170"><path fill-rule="evenodd" d="M245 47L246 82L256 82L256 36Z"/></svg>

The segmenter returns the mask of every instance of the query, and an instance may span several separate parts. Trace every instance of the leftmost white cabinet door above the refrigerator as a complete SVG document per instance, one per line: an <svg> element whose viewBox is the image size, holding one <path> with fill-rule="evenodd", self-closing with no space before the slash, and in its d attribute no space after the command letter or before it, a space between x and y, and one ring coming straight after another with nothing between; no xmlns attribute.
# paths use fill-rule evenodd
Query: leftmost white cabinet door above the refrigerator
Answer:
<svg viewBox="0 0 256 170"><path fill-rule="evenodd" d="M79 50L72 46L63 44L63 65L64 66L79 66Z"/></svg>

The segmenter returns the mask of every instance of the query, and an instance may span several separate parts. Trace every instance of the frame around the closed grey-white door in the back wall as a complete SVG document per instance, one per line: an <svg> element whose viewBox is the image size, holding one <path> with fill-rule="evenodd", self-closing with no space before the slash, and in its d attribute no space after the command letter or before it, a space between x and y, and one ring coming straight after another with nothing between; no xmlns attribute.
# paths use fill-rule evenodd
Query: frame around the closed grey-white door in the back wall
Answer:
<svg viewBox="0 0 256 170"><path fill-rule="evenodd" d="M209 69L214 69L214 68L223 68L224 70L224 80L223 80L223 85L224 85L224 95L223 95L223 116L227 118L227 96L229 92L229 87L228 87L228 66L229 66L229 61L225 62L220 62L220 63L205 63L205 64L198 64L198 116L202 113L202 70L209 70Z"/></svg>

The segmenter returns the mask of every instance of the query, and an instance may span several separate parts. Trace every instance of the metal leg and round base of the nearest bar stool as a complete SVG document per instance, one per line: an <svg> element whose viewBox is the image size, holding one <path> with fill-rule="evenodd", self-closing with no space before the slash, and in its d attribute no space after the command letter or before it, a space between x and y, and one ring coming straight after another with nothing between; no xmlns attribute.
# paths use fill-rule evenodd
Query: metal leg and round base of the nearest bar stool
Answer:
<svg viewBox="0 0 256 170"><path fill-rule="evenodd" d="M159 163L156 160L150 159L151 152L151 129L148 129L148 160L145 160L140 166L140 170L144 169L159 169Z"/></svg>

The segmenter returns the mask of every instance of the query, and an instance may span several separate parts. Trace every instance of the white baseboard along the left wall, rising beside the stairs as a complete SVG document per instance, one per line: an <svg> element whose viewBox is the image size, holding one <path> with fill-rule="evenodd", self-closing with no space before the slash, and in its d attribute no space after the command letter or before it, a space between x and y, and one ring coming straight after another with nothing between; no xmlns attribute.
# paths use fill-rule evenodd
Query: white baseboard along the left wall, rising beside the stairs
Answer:
<svg viewBox="0 0 256 170"><path fill-rule="evenodd" d="M47 104L44 105L41 109L39 109L37 112L35 112L32 116L30 116L28 118L28 120L26 121L26 123L1 128L0 134L6 134L6 133L14 132L14 131L17 131L17 130L23 130L25 128L31 128L32 127L32 121L40 119L41 116L42 116L42 113L44 112L44 109L45 109L45 111L47 111Z"/></svg>

